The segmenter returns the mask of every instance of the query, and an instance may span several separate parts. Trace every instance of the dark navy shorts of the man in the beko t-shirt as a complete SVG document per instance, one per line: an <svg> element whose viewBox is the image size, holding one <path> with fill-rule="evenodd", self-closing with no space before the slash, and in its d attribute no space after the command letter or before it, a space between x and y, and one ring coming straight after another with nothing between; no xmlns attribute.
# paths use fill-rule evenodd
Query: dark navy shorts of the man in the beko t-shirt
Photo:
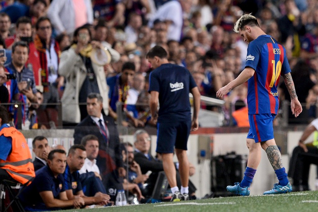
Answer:
<svg viewBox="0 0 318 212"><path fill-rule="evenodd" d="M157 153L173 153L174 149L187 150L191 120L157 123Z"/></svg>

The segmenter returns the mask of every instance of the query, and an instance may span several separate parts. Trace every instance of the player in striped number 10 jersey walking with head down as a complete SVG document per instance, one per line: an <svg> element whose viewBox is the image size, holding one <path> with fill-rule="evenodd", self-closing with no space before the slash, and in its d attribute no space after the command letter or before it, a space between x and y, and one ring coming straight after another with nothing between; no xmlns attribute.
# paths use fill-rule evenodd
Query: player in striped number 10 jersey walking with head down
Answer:
<svg viewBox="0 0 318 212"><path fill-rule="evenodd" d="M220 88L217 97L223 99L229 91L248 80L247 105L250 130L246 144L249 156L243 180L235 183L234 186L227 186L226 189L239 195L250 194L250 184L259 165L261 148L263 148L279 180L279 183L275 183L274 188L265 191L264 195L291 192L292 186L287 179L273 133L273 120L279 106L277 85L280 73L290 94L292 113L297 117L302 111L290 75L286 50L260 29L257 19L251 14L242 15L235 23L234 31L240 33L244 41L249 43L245 69L236 79Z"/></svg>

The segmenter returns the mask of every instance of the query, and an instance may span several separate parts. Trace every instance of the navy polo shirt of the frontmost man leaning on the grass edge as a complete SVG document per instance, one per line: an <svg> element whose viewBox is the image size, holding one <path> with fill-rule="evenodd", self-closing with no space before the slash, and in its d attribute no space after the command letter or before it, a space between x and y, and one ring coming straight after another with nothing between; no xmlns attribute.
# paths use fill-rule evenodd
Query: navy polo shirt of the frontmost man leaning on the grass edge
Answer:
<svg viewBox="0 0 318 212"><path fill-rule="evenodd" d="M19 195L19 199L27 211L52 210L45 206L39 194L42 191L52 191L53 197L59 199L59 194L65 191L63 175L59 174L55 178L48 166L38 169L35 172L34 180Z"/></svg>

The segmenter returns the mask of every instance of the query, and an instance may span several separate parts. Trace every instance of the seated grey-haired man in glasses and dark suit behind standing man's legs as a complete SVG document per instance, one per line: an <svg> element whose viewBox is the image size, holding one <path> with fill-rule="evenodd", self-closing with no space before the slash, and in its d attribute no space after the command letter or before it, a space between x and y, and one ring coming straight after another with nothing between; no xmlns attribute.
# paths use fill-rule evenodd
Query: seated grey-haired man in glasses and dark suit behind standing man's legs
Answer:
<svg viewBox="0 0 318 212"><path fill-rule="evenodd" d="M143 190L143 195L146 197L150 197L154 186L156 184L156 180L158 177L158 173L163 171L162 161L155 159L150 153L150 137L149 134L145 130L137 130L134 134L135 140L135 161L139 164L142 174L146 174L148 171L152 171L146 183L148 183L148 188ZM176 168L178 169L177 165ZM177 186L181 187L180 174L176 171L176 181ZM189 180L189 194L190 199L195 199L194 196L197 188L193 185L193 183Z"/></svg>

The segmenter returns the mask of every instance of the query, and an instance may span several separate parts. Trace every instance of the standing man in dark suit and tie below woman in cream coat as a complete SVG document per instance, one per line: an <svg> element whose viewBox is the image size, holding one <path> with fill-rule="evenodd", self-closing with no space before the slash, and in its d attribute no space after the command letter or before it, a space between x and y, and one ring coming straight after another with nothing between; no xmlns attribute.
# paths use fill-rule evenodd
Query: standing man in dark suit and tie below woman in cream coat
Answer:
<svg viewBox="0 0 318 212"><path fill-rule="evenodd" d="M99 93L90 93L86 102L88 116L75 127L74 144L80 144L85 135L97 136L99 152L96 165L100 169L105 188L109 190L109 184L114 184L118 178L126 176L117 127L113 118L101 113L103 98ZM122 188L120 182L118 182L118 186ZM109 191L107 193L113 195Z"/></svg>

